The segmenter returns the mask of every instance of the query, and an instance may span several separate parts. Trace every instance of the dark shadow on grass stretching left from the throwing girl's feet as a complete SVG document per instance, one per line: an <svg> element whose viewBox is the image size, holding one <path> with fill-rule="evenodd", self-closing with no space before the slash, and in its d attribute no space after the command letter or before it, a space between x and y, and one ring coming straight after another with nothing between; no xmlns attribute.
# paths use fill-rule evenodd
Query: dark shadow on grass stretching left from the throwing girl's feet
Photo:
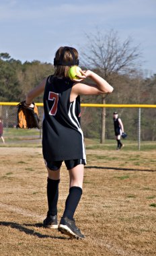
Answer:
<svg viewBox="0 0 156 256"><path fill-rule="evenodd" d="M40 223L37 223L37 224L24 224L24 226L22 226L21 224L17 224L15 222L0 222L0 225L2 226L9 226L11 228L15 228L21 232L24 232L26 234L30 234L32 236L37 236L38 238L54 238L54 239L68 239L69 240L69 237L63 237L63 236L49 236L47 234L40 234L39 232L36 232L34 231L33 229L29 229L29 228L26 228L24 226L35 226L35 227L43 227L42 224Z"/></svg>

